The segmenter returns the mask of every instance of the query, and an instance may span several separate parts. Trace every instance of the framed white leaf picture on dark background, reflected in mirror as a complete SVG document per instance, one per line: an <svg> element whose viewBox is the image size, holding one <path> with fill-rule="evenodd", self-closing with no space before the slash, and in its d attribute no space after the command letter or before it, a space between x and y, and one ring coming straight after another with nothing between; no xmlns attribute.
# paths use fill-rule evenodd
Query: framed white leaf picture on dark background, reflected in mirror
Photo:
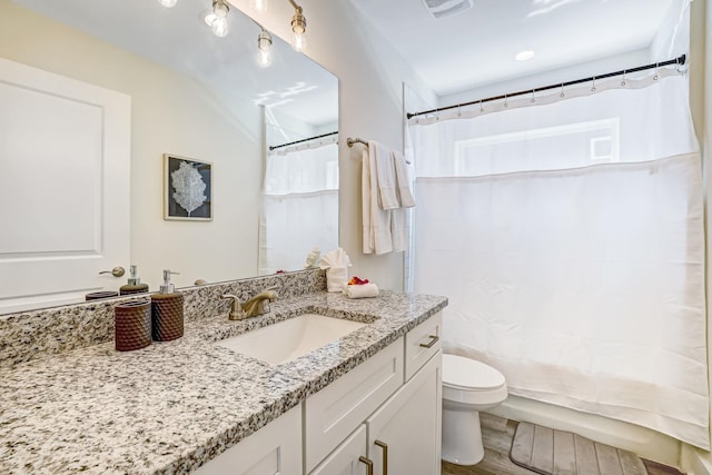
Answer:
<svg viewBox="0 0 712 475"><path fill-rule="evenodd" d="M212 164L164 154L164 219L212 220Z"/></svg>

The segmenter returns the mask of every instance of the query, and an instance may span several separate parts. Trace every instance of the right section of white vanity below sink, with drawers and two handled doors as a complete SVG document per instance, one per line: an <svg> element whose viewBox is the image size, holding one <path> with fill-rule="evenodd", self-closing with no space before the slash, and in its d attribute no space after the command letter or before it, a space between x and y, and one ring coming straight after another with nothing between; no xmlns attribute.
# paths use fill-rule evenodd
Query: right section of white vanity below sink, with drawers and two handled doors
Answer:
<svg viewBox="0 0 712 475"><path fill-rule="evenodd" d="M305 473L439 475L441 326L438 314L306 399Z"/></svg>

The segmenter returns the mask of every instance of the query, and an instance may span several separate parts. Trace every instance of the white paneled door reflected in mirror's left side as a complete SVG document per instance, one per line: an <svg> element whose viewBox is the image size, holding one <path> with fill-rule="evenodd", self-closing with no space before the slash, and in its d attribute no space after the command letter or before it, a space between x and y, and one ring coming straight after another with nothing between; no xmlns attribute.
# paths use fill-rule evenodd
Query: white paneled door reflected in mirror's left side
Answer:
<svg viewBox="0 0 712 475"><path fill-rule="evenodd" d="M0 58L0 314L118 289L129 265L131 102Z"/></svg>

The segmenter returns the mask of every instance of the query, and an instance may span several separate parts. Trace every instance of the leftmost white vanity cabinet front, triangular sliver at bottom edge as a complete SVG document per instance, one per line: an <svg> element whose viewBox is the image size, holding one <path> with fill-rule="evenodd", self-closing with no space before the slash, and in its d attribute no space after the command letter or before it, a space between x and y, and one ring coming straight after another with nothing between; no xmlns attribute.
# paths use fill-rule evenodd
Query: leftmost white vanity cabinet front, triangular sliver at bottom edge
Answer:
<svg viewBox="0 0 712 475"><path fill-rule="evenodd" d="M195 474L301 475L300 406L228 448Z"/></svg>

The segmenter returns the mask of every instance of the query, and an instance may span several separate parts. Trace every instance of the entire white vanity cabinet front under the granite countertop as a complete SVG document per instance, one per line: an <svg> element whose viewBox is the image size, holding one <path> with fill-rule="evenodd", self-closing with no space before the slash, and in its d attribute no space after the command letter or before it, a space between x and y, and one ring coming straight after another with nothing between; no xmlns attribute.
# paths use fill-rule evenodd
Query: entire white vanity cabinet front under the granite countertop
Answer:
<svg viewBox="0 0 712 475"><path fill-rule="evenodd" d="M441 327L431 317L195 473L439 475Z"/></svg>

